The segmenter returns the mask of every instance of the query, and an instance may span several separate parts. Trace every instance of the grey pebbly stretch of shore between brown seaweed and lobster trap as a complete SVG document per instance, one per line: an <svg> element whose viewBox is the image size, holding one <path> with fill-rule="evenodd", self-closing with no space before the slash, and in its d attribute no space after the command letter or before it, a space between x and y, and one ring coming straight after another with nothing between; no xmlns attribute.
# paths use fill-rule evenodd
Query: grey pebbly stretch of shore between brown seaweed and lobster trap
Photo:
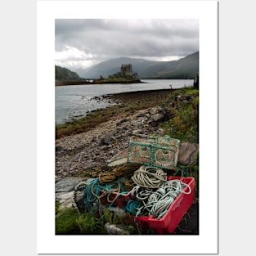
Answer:
<svg viewBox="0 0 256 256"><path fill-rule="evenodd" d="M158 107L138 110L56 140L56 177L88 176L104 170L108 159L128 148L133 133L163 135L164 130L157 128L163 117Z"/></svg>

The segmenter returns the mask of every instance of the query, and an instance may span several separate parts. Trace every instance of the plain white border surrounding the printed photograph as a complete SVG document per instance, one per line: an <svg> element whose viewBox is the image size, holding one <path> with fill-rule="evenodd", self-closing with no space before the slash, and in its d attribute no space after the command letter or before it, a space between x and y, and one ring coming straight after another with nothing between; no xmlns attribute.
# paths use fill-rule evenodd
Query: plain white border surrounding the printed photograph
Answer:
<svg viewBox="0 0 256 256"><path fill-rule="evenodd" d="M218 1L38 1L38 254L218 254ZM200 235L55 236L55 19L200 19Z"/></svg>

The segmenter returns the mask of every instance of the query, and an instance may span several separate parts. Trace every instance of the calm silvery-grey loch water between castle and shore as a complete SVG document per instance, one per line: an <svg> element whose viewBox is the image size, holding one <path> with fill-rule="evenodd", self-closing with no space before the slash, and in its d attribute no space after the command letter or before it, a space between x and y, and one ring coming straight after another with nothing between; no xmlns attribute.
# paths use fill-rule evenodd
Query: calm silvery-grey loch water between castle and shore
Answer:
<svg viewBox="0 0 256 256"><path fill-rule="evenodd" d="M88 115L92 110L114 105L108 99L95 99L102 95L120 92L137 92L146 90L159 90L182 88L191 86L193 80L141 80L146 83L132 84L85 84L55 87L55 123L64 124L72 119L79 119Z"/></svg>

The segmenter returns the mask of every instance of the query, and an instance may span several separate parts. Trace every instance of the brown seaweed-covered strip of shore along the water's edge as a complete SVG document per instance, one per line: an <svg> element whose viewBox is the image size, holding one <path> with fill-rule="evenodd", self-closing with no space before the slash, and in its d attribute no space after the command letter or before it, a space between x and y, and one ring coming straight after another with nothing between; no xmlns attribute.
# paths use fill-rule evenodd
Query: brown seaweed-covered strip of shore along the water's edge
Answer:
<svg viewBox="0 0 256 256"><path fill-rule="evenodd" d="M97 125L110 119L116 119L119 115L136 114L138 110L150 109L160 106L168 101L170 94L179 89L158 89L137 92L121 92L106 94L104 98L116 101L117 105L108 106L99 110L92 110L88 115L74 119L65 124L56 124L56 139L88 132Z"/></svg>

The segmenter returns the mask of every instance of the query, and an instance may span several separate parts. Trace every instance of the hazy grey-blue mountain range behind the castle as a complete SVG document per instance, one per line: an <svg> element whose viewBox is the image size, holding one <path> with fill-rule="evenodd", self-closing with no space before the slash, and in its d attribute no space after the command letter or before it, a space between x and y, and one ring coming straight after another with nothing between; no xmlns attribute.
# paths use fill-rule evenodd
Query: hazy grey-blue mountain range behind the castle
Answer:
<svg viewBox="0 0 256 256"><path fill-rule="evenodd" d="M146 61L120 57L93 65L88 70L75 71L85 79L98 79L101 75L107 78L110 74L119 72L122 64L131 64L138 79L195 79L199 73L199 52L178 61Z"/></svg>

